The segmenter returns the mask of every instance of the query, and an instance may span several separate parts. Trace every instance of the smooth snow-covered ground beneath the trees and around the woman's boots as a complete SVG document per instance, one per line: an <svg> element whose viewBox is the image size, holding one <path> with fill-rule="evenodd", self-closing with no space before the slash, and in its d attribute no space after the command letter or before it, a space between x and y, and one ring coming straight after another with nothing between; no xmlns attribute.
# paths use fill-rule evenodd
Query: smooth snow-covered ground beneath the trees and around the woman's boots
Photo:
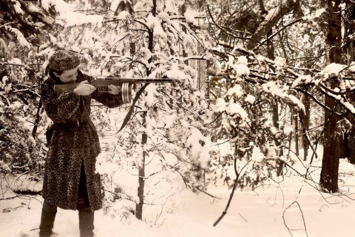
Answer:
<svg viewBox="0 0 355 237"><path fill-rule="evenodd" d="M318 182L321 161L315 159L312 166L315 166L311 167L314 171L312 177ZM305 171L299 161L294 167L301 173ZM208 190L221 199L192 194L187 190L178 192L170 197L172 200L169 206L164 207L164 215L160 217L161 206L144 205L145 221L134 217L130 221L122 221L97 211L95 234L98 237L287 237L291 234L295 237L307 234L310 237L351 237L355 231L355 203L350 199L355 198L352 195L355 193L355 178L351 175L354 170L353 164L341 160L339 188L342 195L321 193L312 181L305 182L289 171L283 180L267 181L254 191L250 188L238 189L227 214L216 227L213 223L224 210L231 191L225 186L209 187ZM3 177L1 180L4 181ZM36 185L40 187L41 184ZM2 182L3 189L5 186ZM7 191L4 197L12 196L14 194ZM31 230L38 228L42 200L40 196L31 200L26 197L1 200L0 236L20 237L27 234L36 237L38 230ZM291 234L285 224L292 229ZM77 212L59 209L54 232L58 237L78 237Z"/></svg>

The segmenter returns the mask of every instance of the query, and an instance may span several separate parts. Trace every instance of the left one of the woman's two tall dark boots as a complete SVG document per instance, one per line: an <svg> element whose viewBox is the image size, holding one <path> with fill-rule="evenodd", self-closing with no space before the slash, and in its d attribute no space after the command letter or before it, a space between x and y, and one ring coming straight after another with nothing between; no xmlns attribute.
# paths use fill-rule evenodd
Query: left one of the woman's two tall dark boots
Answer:
<svg viewBox="0 0 355 237"><path fill-rule="evenodd" d="M41 223L39 224L39 237L50 237L53 232L53 225L57 207L44 202L41 214Z"/></svg>

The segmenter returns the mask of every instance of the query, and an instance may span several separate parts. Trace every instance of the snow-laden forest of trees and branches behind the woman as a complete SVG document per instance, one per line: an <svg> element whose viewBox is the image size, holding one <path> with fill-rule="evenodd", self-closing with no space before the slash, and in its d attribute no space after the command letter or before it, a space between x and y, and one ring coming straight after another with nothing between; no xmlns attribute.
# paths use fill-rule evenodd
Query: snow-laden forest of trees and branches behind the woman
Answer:
<svg viewBox="0 0 355 237"><path fill-rule="evenodd" d="M156 205L156 225L180 184L216 199L226 187L216 226L236 190L291 176L351 202L339 164L355 164L354 36L352 0L1 0L0 201L40 195L51 121L38 89L67 49L93 77L176 79L135 105L93 102L106 215L142 220Z"/></svg>

